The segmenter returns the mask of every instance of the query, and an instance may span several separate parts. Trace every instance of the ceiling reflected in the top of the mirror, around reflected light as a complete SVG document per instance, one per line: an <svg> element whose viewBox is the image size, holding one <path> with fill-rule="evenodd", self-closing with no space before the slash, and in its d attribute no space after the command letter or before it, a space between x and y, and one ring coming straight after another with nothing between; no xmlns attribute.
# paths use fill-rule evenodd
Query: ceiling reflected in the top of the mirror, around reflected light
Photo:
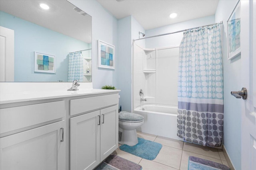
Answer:
<svg viewBox="0 0 256 170"><path fill-rule="evenodd" d="M40 8L40 3L50 6ZM0 0L0 10L75 39L91 43L92 17L73 10L66 0Z"/></svg>

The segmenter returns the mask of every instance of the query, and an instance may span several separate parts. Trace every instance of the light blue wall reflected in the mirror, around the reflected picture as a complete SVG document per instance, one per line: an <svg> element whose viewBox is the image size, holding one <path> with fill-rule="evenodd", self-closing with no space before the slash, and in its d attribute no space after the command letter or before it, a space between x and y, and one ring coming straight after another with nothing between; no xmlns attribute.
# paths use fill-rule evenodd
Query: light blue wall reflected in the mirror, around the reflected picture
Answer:
<svg viewBox="0 0 256 170"><path fill-rule="evenodd" d="M88 44L5 12L0 25L14 30L15 82L68 82L68 53ZM56 56L56 74L34 72L34 51Z"/></svg>

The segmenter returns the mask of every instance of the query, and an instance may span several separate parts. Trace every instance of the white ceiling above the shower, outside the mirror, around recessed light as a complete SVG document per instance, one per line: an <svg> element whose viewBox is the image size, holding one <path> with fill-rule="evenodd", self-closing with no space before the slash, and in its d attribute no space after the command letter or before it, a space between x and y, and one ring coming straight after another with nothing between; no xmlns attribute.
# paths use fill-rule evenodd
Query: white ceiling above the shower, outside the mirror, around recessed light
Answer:
<svg viewBox="0 0 256 170"><path fill-rule="evenodd" d="M132 15L145 30L214 15L218 0L97 0L117 19ZM174 19L172 12L178 13Z"/></svg>

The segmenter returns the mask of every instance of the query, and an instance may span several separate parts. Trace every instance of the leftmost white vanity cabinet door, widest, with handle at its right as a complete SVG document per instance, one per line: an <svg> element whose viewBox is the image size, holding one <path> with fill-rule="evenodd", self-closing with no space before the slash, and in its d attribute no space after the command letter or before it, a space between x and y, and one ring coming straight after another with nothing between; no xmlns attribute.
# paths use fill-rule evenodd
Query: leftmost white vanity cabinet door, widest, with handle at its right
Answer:
<svg viewBox="0 0 256 170"><path fill-rule="evenodd" d="M65 127L59 121L0 138L0 170L66 169Z"/></svg>

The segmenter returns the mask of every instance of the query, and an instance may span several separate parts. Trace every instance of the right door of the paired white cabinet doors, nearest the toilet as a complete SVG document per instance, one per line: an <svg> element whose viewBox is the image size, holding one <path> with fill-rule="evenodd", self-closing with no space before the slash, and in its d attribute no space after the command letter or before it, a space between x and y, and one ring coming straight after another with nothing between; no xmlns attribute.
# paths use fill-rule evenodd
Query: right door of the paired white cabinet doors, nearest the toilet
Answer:
<svg viewBox="0 0 256 170"><path fill-rule="evenodd" d="M118 148L118 105L100 110L100 161Z"/></svg>

